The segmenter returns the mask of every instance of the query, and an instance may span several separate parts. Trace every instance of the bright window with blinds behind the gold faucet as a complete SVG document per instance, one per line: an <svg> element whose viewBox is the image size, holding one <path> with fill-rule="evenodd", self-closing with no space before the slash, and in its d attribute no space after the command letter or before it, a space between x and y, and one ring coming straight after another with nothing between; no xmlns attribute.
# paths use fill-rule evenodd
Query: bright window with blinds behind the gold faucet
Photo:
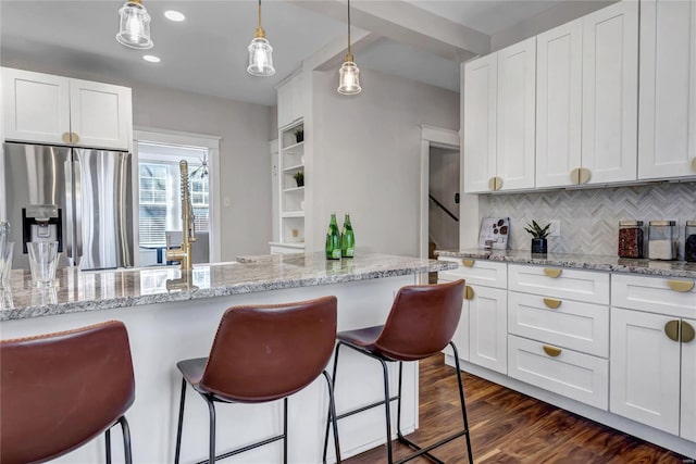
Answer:
<svg viewBox="0 0 696 464"><path fill-rule="evenodd" d="M140 247L166 244L167 230L182 230L179 161L188 162L189 192L197 231L210 229L208 150L138 143Z"/></svg>

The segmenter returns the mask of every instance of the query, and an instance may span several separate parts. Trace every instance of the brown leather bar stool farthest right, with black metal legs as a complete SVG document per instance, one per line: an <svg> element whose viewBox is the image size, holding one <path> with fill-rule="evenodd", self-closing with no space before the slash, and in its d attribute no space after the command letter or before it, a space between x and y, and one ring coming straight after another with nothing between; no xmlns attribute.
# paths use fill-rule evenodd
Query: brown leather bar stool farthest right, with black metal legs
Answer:
<svg viewBox="0 0 696 464"><path fill-rule="evenodd" d="M443 463L431 454L431 451L456 438L464 436L467 439L467 453L469 462L473 464L471 452L471 439L469 437L469 421L464 405L464 389L459 368L459 353L451 341L455 335L461 305L464 296L464 280L457 280L439 285L415 285L402 287L397 293L391 310L383 326L368 327L358 330L338 333L336 338L336 353L334 358L334 386L336 385L336 367L338 365L338 352L341 346L351 348L359 353L366 354L382 363L384 375L384 400L339 414L336 419L341 419L353 414L368 411L384 404L387 435L387 457L389 464L394 463L391 451L391 415L389 403L397 401L397 439L415 450L414 453L396 461L403 463L420 455L428 457L436 463ZM463 429L427 447L421 447L401 434L401 378L405 361L419 361L439 353L447 344L455 351L457 364L457 380L459 383L459 400L463 418ZM399 363L398 393L389 397L389 380L387 362ZM328 427L324 438L324 457L328 442Z"/></svg>

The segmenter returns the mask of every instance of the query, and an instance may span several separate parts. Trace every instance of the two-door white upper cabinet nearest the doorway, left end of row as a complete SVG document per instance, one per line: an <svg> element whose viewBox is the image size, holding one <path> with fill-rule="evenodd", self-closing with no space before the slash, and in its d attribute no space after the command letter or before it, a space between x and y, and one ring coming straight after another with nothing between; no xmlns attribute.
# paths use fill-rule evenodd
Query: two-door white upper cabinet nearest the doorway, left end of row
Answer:
<svg viewBox="0 0 696 464"><path fill-rule="evenodd" d="M534 187L536 38L464 64L464 191Z"/></svg>

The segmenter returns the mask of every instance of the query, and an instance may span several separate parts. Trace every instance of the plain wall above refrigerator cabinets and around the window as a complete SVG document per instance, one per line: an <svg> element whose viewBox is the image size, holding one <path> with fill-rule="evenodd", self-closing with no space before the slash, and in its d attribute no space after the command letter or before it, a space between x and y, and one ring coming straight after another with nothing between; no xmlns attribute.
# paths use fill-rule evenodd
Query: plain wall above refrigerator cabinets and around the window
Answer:
<svg viewBox="0 0 696 464"><path fill-rule="evenodd" d="M132 87L133 123L136 126L221 137L221 260L269 252L269 140L277 137L277 133L272 130L272 111L275 108L113 79L108 70L75 73L66 63L27 62L7 53L3 60L3 66ZM224 205L225 198L229 199L229 206Z"/></svg>

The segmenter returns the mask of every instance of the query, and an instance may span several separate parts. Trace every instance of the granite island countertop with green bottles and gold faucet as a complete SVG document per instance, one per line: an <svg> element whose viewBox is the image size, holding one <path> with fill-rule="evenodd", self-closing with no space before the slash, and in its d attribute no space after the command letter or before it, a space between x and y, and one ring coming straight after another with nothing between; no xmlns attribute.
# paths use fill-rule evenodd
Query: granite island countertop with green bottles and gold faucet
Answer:
<svg viewBox="0 0 696 464"><path fill-rule="evenodd" d="M456 263L368 254L327 261L324 253L238 258L237 262L82 272L57 272L53 288L32 287L28 271L13 271L11 289L0 290L0 321L186 301L198 298L366 280L456 268Z"/></svg>

